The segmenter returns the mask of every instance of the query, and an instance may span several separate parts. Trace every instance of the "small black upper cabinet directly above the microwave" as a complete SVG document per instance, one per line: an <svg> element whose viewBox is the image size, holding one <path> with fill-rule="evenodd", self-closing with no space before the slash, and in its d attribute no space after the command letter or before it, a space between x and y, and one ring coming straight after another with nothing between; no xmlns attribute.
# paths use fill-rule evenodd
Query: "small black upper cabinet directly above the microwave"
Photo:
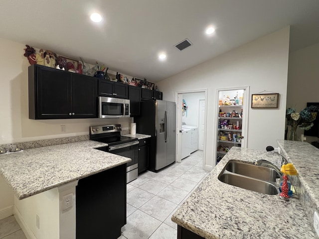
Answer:
<svg viewBox="0 0 319 239"><path fill-rule="evenodd" d="M99 79L99 96L129 99L129 86Z"/></svg>

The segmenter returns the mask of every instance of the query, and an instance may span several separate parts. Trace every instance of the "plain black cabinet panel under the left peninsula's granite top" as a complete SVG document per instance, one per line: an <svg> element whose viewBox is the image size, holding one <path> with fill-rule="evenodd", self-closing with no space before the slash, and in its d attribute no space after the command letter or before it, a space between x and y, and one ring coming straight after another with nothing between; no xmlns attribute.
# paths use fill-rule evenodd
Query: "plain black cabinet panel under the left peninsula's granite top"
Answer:
<svg viewBox="0 0 319 239"><path fill-rule="evenodd" d="M126 224L126 164L80 179L76 239L117 239Z"/></svg>

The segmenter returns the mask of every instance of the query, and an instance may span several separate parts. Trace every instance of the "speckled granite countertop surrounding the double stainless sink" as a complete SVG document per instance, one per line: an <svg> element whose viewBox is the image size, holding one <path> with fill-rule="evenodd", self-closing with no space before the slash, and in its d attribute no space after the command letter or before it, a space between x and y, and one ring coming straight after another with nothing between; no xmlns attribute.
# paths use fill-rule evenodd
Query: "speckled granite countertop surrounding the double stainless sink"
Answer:
<svg viewBox="0 0 319 239"><path fill-rule="evenodd" d="M300 153L300 147L294 145L294 148L296 154ZM229 160L252 162L258 159L281 165L278 154L232 147L171 220L205 239L317 238L304 205L297 197L286 202L278 195L238 188L217 178ZM302 170L299 173L302 174Z"/></svg>

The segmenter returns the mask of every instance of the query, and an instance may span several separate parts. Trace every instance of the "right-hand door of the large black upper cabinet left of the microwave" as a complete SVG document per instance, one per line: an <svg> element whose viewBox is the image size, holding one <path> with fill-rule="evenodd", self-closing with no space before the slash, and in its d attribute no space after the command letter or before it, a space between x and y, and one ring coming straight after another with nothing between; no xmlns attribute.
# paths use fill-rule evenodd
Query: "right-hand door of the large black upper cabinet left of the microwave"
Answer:
<svg viewBox="0 0 319 239"><path fill-rule="evenodd" d="M97 96L98 79L72 74L72 118L97 118Z"/></svg>

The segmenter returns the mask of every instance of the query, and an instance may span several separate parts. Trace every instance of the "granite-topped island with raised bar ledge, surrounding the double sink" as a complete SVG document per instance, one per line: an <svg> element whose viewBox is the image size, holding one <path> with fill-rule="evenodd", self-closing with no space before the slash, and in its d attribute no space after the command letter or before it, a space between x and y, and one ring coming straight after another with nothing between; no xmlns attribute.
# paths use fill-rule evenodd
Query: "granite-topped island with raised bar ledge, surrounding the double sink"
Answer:
<svg viewBox="0 0 319 239"><path fill-rule="evenodd" d="M310 239L313 213L319 209L319 150L306 142L278 140L281 153L299 172L291 177L297 196L289 202L279 195L266 195L238 188L218 180L229 160L268 160L278 167L281 159L252 149L232 147L197 189L174 213L178 239Z"/></svg>

